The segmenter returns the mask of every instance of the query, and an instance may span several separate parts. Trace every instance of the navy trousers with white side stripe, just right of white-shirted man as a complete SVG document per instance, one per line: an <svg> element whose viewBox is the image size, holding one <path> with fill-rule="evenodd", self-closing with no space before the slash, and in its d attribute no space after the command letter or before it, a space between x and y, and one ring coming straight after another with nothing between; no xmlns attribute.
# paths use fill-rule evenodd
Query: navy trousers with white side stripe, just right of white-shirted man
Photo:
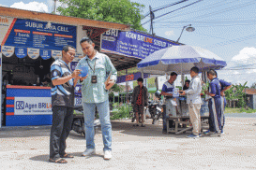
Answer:
<svg viewBox="0 0 256 170"><path fill-rule="evenodd" d="M209 129L211 132L221 132L221 99L212 98L209 100Z"/></svg>

